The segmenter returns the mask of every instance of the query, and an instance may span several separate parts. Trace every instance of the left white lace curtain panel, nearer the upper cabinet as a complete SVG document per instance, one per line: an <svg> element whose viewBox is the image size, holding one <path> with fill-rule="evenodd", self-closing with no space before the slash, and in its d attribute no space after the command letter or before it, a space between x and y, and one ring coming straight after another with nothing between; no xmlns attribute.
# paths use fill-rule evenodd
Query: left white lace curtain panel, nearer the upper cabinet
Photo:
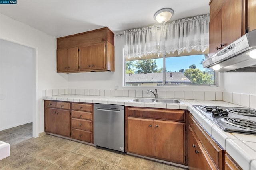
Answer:
<svg viewBox="0 0 256 170"><path fill-rule="evenodd" d="M140 29L124 31L125 45L124 57L141 58L142 56L157 53L157 29L156 25Z"/></svg>

